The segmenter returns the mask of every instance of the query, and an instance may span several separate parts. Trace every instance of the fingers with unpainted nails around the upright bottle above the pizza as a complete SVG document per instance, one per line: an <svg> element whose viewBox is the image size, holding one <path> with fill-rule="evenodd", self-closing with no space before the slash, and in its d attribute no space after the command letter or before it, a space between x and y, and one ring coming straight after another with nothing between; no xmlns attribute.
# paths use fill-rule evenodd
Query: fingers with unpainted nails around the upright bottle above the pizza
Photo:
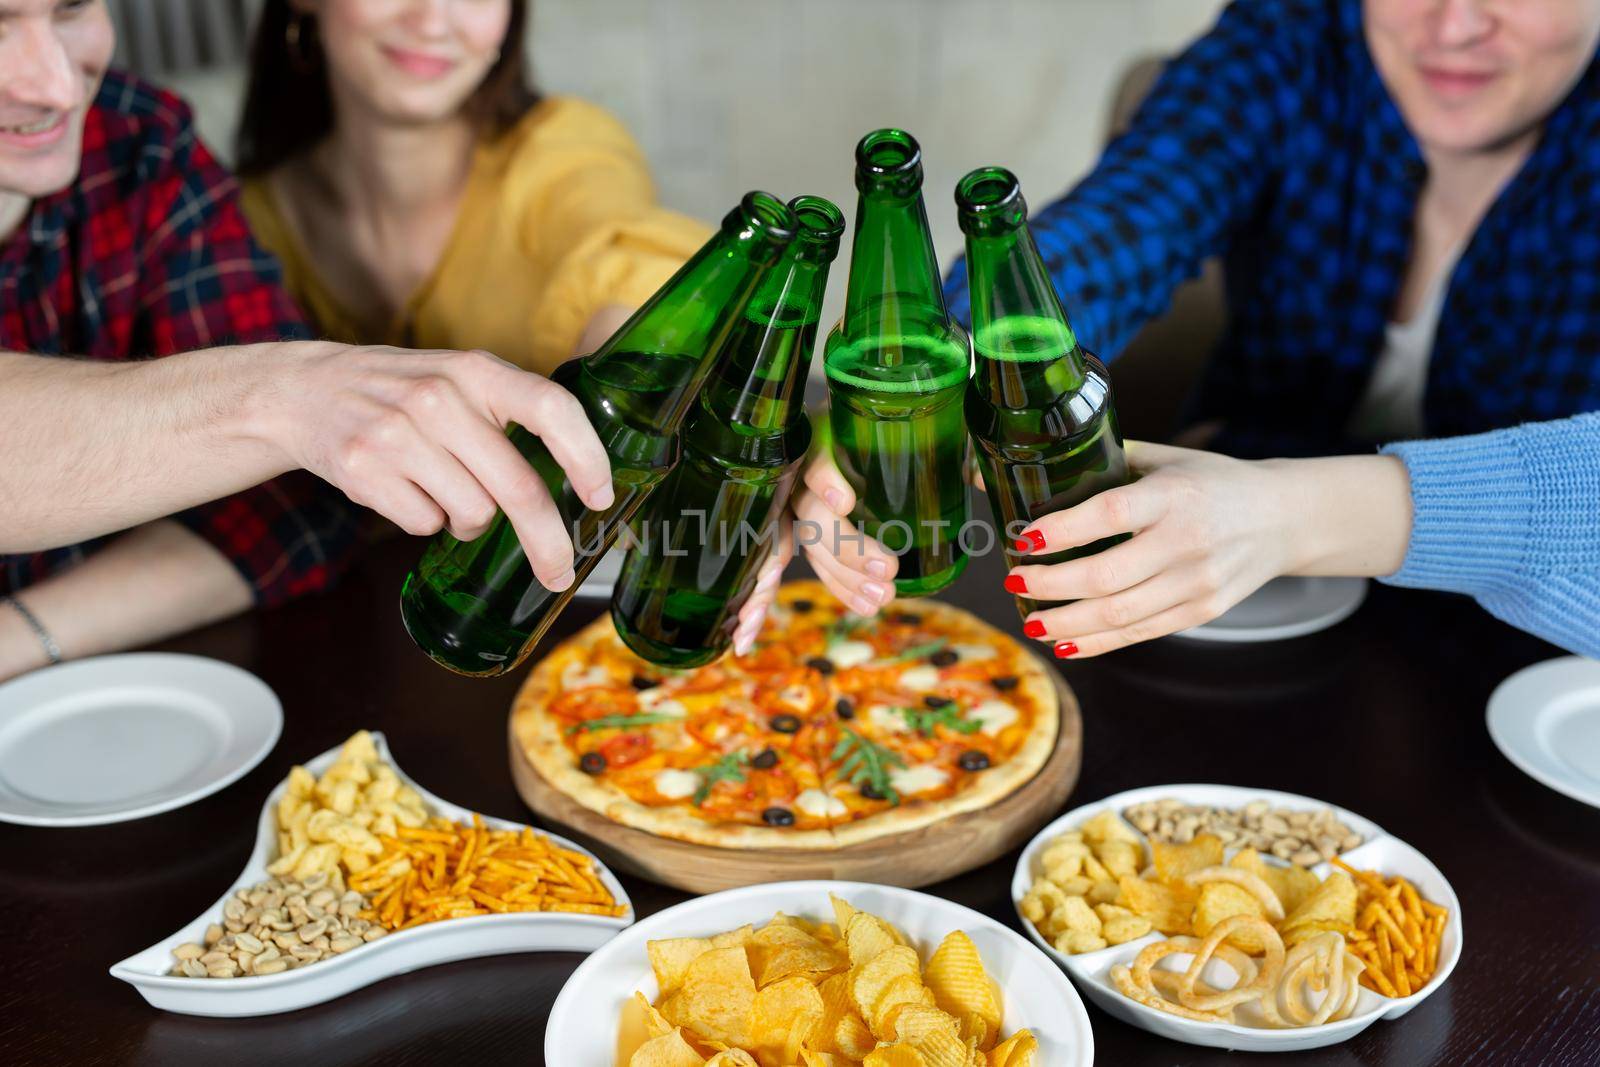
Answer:
<svg viewBox="0 0 1600 1067"><path fill-rule="evenodd" d="M856 530L854 506L856 494L824 442L806 461L805 486L792 501L800 547L830 593L856 614L874 616L894 598L899 560Z"/></svg>

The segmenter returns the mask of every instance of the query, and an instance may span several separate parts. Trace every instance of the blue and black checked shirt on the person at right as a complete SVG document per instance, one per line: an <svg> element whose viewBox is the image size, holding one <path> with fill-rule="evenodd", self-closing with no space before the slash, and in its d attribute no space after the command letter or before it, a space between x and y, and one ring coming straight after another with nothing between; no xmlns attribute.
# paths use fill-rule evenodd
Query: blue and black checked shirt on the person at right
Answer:
<svg viewBox="0 0 1600 1067"><path fill-rule="evenodd" d="M1224 451L1312 454L1384 344L1427 176L1360 0L1235 0L1034 234L1085 347L1115 357L1203 259L1230 323L1194 403ZM965 264L947 283L970 320ZM1427 371L1430 437L1600 410L1600 64L1454 267Z"/></svg>

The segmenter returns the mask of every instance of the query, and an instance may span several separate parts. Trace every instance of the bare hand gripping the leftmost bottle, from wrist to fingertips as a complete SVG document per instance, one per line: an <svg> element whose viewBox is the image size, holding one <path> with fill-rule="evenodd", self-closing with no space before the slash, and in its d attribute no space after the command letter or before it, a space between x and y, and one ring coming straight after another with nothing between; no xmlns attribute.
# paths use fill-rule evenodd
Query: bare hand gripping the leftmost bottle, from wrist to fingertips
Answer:
<svg viewBox="0 0 1600 1067"><path fill-rule="evenodd" d="M573 544L538 472L506 437L538 435L586 506L614 501L611 464L578 400L488 352L285 346L266 424L294 466L413 534L482 536L504 510L534 577L571 585Z"/></svg>

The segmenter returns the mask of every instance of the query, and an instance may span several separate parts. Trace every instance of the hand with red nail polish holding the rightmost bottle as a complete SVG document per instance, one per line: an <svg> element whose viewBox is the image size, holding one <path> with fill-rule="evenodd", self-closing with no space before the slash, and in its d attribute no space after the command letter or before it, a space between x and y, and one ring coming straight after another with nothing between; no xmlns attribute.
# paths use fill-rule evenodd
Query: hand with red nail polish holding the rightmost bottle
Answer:
<svg viewBox="0 0 1600 1067"><path fill-rule="evenodd" d="M1200 625L1280 574L1389 574L1405 560L1410 478L1392 456L1246 462L1128 442L1128 464L1138 482L1040 518L1022 541L1059 552L1133 537L1006 577L1010 592L1075 601L1024 622L1058 657Z"/></svg>

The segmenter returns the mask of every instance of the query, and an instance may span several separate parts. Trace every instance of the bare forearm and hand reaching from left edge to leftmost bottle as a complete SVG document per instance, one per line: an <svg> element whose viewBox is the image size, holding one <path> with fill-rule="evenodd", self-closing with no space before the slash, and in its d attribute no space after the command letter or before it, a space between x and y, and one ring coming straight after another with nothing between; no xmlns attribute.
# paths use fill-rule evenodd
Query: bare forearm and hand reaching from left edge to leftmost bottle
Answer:
<svg viewBox="0 0 1600 1067"><path fill-rule="evenodd" d="M610 464L578 402L485 352L325 342L245 346L142 363L0 354L0 550L123 530L304 467L402 528L475 537L496 506L534 574L560 581L571 541L501 432L546 438L586 501Z"/></svg>

